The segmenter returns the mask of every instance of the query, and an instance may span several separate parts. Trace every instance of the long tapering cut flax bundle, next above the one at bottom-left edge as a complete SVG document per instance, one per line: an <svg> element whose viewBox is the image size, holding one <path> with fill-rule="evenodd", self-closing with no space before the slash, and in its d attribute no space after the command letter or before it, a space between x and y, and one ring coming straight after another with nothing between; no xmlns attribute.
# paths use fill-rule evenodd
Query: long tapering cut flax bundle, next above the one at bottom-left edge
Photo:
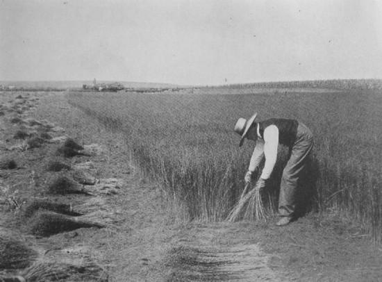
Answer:
<svg viewBox="0 0 382 282"><path fill-rule="evenodd" d="M38 210L28 221L27 229L28 233L47 237L80 228L103 228L106 226L103 222L97 222L87 217L71 217L47 210Z"/></svg>

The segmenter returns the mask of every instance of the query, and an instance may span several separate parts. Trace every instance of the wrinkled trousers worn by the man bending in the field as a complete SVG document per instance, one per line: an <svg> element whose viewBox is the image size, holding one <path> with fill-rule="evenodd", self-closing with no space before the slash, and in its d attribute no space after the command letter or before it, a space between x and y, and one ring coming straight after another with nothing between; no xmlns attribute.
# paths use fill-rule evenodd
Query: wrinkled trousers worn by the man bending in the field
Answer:
<svg viewBox="0 0 382 282"><path fill-rule="evenodd" d="M306 160L313 148L313 134L308 127L299 122L296 141L290 151L290 158L283 170L279 196L279 215L292 217L296 209L297 183L306 167Z"/></svg>

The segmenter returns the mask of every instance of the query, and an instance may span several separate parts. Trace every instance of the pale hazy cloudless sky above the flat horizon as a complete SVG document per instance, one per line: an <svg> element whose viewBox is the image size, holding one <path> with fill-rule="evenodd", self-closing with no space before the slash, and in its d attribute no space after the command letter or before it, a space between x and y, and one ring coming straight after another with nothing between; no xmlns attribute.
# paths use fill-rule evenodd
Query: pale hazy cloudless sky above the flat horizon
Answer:
<svg viewBox="0 0 382 282"><path fill-rule="evenodd" d="M379 2L0 0L0 81L382 78Z"/></svg>

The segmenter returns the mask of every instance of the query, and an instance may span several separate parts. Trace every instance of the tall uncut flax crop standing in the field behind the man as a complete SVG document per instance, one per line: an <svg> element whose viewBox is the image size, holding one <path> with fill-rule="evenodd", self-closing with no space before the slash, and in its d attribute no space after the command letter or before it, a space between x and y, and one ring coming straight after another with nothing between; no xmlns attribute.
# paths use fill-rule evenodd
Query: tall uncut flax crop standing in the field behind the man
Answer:
<svg viewBox="0 0 382 282"><path fill-rule="evenodd" d="M382 94L373 90L254 90L235 95L72 92L69 102L114 131L123 131L135 163L158 181L178 215L221 220L243 188L254 143L238 148L238 117L297 118L315 134L301 193L316 210L356 217L380 238L382 229ZM197 91L203 91L199 88ZM206 93L210 90L206 88ZM281 174L285 149L274 174ZM275 177L274 179L277 179ZM278 182L268 189L271 206ZM313 195L308 199L308 195Z"/></svg>

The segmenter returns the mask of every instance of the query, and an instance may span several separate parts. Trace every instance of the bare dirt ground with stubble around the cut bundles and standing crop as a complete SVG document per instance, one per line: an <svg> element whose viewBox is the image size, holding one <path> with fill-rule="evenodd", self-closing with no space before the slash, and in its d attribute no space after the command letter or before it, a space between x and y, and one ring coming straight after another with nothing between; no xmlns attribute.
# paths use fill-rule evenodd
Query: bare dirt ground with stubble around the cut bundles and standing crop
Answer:
<svg viewBox="0 0 382 282"><path fill-rule="evenodd" d="M123 136L69 106L65 93L2 92L0 103L0 161L17 164L0 169L0 235L37 251L38 262L65 265L70 272L60 281L382 281L381 245L335 211L282 228L274 226L276 219L176 222L160 190L131 163ZM53 138L65 135L100 150L64 158L57 156L63 141L32 148L27 139L15 139L20 130L40 134L36 122L50 123L44 132ZM90 161L95 179L122 184L97 191L82 186L92 194L49 194L50 179L60 175L47 172L52 159L72 168ZM35 235L23 219L35 199L71 204L106 227ZM0 269L0 274L21 270Z"/></svg>

